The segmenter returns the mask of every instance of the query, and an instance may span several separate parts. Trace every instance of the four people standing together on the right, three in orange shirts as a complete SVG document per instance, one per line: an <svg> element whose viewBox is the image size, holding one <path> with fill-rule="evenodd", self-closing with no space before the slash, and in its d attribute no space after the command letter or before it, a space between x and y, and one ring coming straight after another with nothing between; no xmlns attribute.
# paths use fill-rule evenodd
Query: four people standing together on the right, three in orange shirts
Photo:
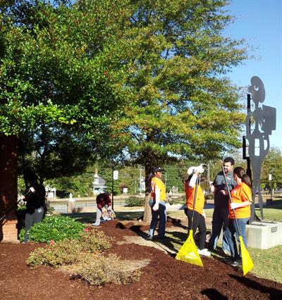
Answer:
<svg viewBox="0 0 282 300"><path fill-rule="evenodd" d="M223 230L222 250L231 256L231 265L241 264L240 253L236 245L239 235L247 246L246 225L250 220L250 205L252 204L252 182L245 173L244 168L234 168L235 161L231 157L223 160L223 171L219 172L210 190L214 193L214 213L212 216L212 235L209 239L208 249L205 248L207 227L204 214L204 193L198 185L200 170L195 168L184 182L186 207L185 215L188 217L188 232L193 234L199 231L198 253L202 256L210 256L210 251L216 250L221 230ZM166 187L161 177L164 169L154 168L149 178L151 199L149 206L152 209L152 222L149 227L148 240L164 239L166 227ZM224 172L224 174L223 174ZM226 187L226 182L228 187ZM197 187L196 187L197 185ZM197 195L195 192L197 190ZM229 199L231 192L231 201ZM159 217L159 231L154 237ZM235 222L237 219L237 223Z"/></svg>

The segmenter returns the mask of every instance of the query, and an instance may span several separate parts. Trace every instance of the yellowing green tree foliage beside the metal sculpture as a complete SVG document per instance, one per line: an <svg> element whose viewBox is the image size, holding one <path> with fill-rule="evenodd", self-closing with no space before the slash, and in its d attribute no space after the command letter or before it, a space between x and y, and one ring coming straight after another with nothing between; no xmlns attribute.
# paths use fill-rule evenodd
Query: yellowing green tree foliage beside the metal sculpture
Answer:
<svg viewBox="0 0 282 300"><path fill-rule="evenodd" d="M243 40L223 37L232 20L226 4L128 1L124 55L132 97L115 128L147 177L153 166L180 157L209 160L240 145L244 116L227 73L247 58L247 49Z"/></svg>

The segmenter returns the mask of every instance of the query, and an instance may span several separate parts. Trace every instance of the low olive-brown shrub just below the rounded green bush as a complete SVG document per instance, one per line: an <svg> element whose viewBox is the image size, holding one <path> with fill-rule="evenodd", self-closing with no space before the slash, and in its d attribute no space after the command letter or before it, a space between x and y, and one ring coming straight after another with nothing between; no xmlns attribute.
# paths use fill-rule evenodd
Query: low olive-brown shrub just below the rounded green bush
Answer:
<svg viewBox="0 0 282 300"><path fill-rule="evenodd" d="M51 240L46 247L35 249L27 258L27 265L31 268L37 265L57 268L61 265L84 261L88 257L87 254L97 256L99 252L109 249L110 242L111 237L106 237L104 232L85 229L79 239L63 239L59 242Z"/></svg>

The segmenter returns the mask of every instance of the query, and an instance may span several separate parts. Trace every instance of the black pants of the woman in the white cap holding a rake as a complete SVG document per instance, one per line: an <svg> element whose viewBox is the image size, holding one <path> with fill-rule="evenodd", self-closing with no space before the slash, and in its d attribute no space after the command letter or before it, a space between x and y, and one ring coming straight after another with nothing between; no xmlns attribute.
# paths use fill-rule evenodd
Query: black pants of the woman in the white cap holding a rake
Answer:
<svg viewBox="0 0 282 300"><path fill-rule="evenodd" d="M198 229L199 234L200 234L199 249L200 250L204 249L204 242L206 241L206 233L207 233L207 227L206 227L206 223L204 221L204 216L200 215L200 213L198 213L197 211L194 211L194 216L193 216L193 220L192 220L193 211L188 208L185 208L184 212L185 212L185 215L187 215L187 217L188 217L188 233L192 228L193 235L195 237L195 233ZM192 221L193 221L193 224L192 224Z"/></svg>

